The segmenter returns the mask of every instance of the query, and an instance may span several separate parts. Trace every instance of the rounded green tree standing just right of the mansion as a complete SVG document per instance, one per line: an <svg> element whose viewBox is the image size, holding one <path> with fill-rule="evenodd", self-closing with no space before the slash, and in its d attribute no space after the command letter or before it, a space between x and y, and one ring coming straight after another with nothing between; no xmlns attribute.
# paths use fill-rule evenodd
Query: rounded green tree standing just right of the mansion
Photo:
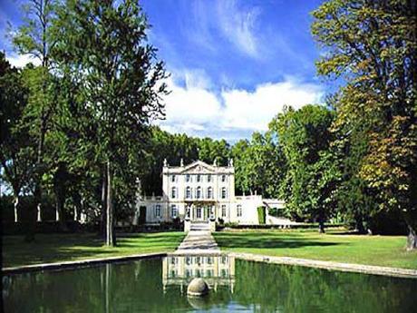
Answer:
<svg viewBox="0 0 417 313"><path fill-rule="evenodd" d="M333 112L310 104L298 111L286 109L271 125L286 156L286 178L281 186L286 210L298 218L317 220L320 232L332 212L338 177L329 149L333 119Z"/></svg>

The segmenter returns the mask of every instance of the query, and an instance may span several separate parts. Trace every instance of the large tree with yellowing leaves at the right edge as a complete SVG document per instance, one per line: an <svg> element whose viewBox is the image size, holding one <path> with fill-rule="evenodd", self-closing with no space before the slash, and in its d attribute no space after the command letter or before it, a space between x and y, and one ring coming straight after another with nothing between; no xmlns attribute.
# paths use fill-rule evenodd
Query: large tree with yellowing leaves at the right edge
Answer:
<svg viewBox="0 0 417 313"><path fill-rule="evenodd" d="M338 136L367 141L354 175L375 195L373 212L403 216L417 249L417 2L332 0L313 16L318 73L345 81Z"/></svg>

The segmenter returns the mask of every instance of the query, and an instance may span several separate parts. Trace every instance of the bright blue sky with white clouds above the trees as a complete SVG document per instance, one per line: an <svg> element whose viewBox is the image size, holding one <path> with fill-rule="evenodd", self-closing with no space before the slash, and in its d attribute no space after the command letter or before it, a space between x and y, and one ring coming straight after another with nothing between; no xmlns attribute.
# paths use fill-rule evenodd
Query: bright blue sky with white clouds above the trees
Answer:
<svg viewBox="0 0 417 313"><path fill-rule="evenodd" d="M168 132L236 142L267 124L285 105L323 103L327 87L315 73L320 51L310 12L318 0L143 0L149 41L170 73ZM0 0L0 50L21 66L5 39L22 24L24 0Z"/></svg>

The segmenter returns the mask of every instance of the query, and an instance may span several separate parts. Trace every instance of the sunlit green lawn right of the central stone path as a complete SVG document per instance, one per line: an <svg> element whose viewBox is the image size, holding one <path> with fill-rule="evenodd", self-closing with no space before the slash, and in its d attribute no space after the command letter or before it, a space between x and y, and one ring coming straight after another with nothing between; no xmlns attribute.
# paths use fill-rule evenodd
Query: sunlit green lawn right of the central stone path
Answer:
<svg viewBox="0 0 417 313"><path fill-rule="evenodd" d="M214 233L218 246L234 252L417 269L417 251L404 236L349 235L342 231L244 230Z"/></svg>

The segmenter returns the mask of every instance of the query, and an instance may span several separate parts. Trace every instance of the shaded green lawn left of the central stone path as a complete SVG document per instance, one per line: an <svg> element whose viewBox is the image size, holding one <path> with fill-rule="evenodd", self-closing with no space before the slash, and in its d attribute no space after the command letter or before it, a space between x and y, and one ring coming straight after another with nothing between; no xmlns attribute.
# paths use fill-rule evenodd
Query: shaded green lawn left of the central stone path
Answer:
<svg viewBox="0 0 417 313"><path fill-rule="evenodd" d="M22 236L5 236L3 267L168 252L183 238L183 232L127 234L118 236L117 247L108 248L94 234L39 234L33 243L24 242Z"/></svg>

